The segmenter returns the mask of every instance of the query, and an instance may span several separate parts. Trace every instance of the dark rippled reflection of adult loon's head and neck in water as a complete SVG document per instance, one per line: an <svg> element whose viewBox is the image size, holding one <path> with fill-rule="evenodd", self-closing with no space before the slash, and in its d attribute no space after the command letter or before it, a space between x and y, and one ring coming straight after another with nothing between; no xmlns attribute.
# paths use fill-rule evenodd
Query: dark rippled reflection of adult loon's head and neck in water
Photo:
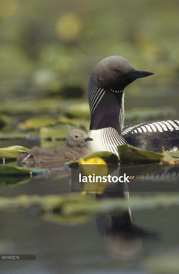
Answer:
<svg viewBox="0 0 179 274"><path fill-rule="evenodd" d="M124 192L103 192L101 195L96 195L98 199L124 196ZM123 259L135 257L142 250L143 240L158 239L157 233L148 232L133 225L130 211L99 214L96 224L109 250Z"/></svg>

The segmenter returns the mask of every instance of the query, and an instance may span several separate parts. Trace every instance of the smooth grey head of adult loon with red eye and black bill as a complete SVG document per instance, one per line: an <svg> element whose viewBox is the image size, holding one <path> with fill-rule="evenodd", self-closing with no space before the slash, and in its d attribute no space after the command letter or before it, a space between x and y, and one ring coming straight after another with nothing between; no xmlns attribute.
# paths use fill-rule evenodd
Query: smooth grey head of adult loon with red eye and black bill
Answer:
<svg viewBox="0 0 179 274"><path fill-rule="evenodd" d="M121 56L110 56L101 60L93 69L88 84L88 99L97 88L109 92L122 91L137 78L146 77L153 72L139 71Z"/></svg>

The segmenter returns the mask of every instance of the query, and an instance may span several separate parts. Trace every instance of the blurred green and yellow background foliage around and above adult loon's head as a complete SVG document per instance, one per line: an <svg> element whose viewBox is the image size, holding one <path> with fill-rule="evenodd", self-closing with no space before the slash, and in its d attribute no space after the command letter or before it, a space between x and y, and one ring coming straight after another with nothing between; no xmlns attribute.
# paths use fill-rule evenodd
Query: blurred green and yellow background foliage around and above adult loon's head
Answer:
<svg viewBox="0 0 179 274"><path fill-rule="evenodd" d="M0 0L0 96L68 97L67 87L82 95L94 66L111 55L155 72L126 94L176 89L178 11L176 0Z"/></svg>

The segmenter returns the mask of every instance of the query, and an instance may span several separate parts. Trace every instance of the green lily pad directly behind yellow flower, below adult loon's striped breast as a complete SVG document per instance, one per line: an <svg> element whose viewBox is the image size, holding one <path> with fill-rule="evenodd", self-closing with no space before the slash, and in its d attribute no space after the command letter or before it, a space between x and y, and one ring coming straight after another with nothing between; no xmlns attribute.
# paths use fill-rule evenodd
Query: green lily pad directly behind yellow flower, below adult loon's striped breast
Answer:
<svg viewBox="0 0 179 274"><path fill-rule="evenodd" d="M93 153L85 155L82 159L87 160L87 159L91 159L94 157L102 158L107 164L118 164L119 163L118 156L110 151L93 152ZM78 162L79 162L78 160L75 162L69 161L69 162L65 162L65 165L71 165L71 164L75 164Z"/></svg>

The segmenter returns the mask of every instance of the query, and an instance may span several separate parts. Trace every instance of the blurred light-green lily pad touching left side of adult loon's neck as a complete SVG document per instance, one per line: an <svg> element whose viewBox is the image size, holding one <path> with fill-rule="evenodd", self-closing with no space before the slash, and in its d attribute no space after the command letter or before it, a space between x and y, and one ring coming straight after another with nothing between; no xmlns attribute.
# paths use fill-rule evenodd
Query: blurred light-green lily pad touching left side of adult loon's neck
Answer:
<svg viewBox="0 0 179 274"><path fill-rule="evenodd" d="M88 103L82 103L77 105L72 105L68 108L66 115L70 118L72 117L86 117L90 119L90 107Z"/></svg>

